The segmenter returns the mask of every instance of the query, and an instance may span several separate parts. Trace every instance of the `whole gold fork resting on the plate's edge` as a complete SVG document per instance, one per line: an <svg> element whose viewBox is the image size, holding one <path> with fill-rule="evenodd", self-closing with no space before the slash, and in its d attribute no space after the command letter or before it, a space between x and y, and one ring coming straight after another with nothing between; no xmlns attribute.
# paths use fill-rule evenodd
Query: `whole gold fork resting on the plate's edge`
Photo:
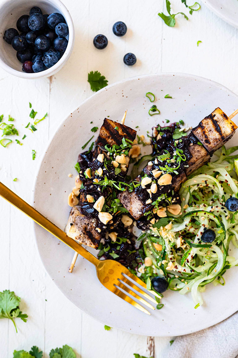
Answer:
<svg viewBox="0 0 238 358"><path fill-rule="evenodd" d="M42 214L36 211L36 209L26 203L1 182L0 196L8 200L9 203L20 209L44 229L71 247L74 251L78 252L79 255L93 263L96 267L99 281L108 290L148 315L150 315L149 311L141 304L144 304L150 309L155 309L149 302L147 302L147 300L154 304L157 304L157 301L147 292L150 292L150 294L153 294L158 298L161 298L161 296L159 296L153 290L147 290L145 283L137 276L134 276L121 263L114 260L98 260L98 258L93 256L89 251L80 246L79 243L74 241L72 238L68 237L64 231L46 219ZM139 285L142 287L139 287ZM139 301L141 304L135 300Z"/></svg>

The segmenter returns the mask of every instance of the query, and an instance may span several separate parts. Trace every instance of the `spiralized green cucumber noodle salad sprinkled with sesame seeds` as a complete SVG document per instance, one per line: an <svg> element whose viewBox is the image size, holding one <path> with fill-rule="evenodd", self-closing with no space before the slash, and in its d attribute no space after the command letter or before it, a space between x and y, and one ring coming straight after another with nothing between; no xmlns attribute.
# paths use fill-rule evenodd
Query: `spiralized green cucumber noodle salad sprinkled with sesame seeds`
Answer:
<svg viewBox="0 0 238 358"><path fill-rule="evenodd" d="M238 248L238 211L225 206L230 197L238 197L238 154L230 155L237 149L223 146L215 152L217 160L203 165L182 184L180 214L160 218L138 237L135 246L143 244L143 262L131 271L148 289L153 289L153 277L165 278L170 290L182 295L190 291L197 308L203 304L205 286L224 285L225 271L238 265L238 258L228 255L231 245ZM207 230L213 231L212 242L201 240ZM152 266L145 266L145 257Z"/></svg>

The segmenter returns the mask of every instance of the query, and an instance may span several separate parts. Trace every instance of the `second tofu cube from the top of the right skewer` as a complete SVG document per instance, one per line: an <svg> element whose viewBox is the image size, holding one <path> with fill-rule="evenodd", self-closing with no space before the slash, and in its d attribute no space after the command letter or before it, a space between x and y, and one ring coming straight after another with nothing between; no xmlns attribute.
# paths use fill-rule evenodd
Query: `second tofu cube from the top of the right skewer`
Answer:
<svg viewBox="0 0 238 358"><path fill-rule="evenodd" d="M188 160L188 168L184 168L186 175L193 173L195 170L208 163L210 155L202 145L193 143L188 147L191 158Z"/></svg>

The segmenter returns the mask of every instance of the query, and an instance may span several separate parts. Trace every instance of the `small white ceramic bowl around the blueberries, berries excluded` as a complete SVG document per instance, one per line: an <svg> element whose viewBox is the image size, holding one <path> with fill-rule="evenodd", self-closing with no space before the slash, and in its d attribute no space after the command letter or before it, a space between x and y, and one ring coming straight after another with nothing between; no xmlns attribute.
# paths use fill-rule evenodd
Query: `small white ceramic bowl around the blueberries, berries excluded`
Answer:
<svg viewBox="0 0 238 358"><path fill-rule="evenodd" d="M64 16L69 27L68 46L61 59L52 67L38 73L26 73L22 71L22 63L16 58L16 51L3 39L5 30L16 28L16 21L21 15L29 15L33 6L39 6L43 14L60 13ZM8 73L20 78L43 78L58 72L68 60L74 46L73 20L60 0L5 0L0 7L0 66Z"/></svg>

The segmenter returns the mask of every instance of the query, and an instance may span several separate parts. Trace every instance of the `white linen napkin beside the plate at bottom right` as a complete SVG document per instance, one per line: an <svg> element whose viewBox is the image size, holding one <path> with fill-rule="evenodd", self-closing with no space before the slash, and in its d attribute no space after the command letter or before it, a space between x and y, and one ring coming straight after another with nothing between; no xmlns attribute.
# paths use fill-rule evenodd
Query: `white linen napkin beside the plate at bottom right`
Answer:
<svg viewBox="0 0 238 358"><path fill-rule="evenodd" d="M223 303L221 302L221 310ZM162 358L238 357L238 311L224 321L202 331L175 337Z"/></svg>

